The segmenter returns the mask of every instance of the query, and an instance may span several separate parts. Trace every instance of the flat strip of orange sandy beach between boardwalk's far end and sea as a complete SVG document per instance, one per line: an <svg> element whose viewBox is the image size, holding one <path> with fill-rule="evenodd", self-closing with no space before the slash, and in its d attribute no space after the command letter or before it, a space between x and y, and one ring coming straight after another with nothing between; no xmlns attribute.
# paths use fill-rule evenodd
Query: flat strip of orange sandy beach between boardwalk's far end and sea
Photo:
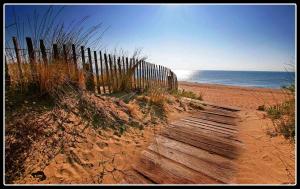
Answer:
<svg viewBox="0 0 300 189"><path fill-rule="evenodd" d="M239 87L186 81L179 81L178 87L202 95L204 101L248 110L257 110L262 105L279 104L290 97L282 89L271 88Z"/></svg>

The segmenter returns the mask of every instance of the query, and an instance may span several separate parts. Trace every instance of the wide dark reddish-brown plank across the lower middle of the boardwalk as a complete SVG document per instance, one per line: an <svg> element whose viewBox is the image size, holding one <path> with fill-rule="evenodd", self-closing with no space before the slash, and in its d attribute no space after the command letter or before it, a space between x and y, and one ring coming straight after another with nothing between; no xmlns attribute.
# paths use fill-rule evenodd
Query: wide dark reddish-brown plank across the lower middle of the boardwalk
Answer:
<svg viewBox="0 0 300 189"><path fill-rule="evenodd" d="M205 139L201 139L199 138L199 136L195 136L192 135L190 133L186 133L186 132L182 132L182 131L178 131L176 129L172 129L171 132L169 131L164 131L162 132L163 136L166 136L168 138L195 146L197 148L201 148L204 150L207 150L211 153L215 153L215 154L219 154L221 156L230 158L230 159L234 159L237 157L237 154L235 152L235 148L225 148L224 145L219 145L216 146L214 143L212 143L212 141L209 140L205 140Z"/></svg>

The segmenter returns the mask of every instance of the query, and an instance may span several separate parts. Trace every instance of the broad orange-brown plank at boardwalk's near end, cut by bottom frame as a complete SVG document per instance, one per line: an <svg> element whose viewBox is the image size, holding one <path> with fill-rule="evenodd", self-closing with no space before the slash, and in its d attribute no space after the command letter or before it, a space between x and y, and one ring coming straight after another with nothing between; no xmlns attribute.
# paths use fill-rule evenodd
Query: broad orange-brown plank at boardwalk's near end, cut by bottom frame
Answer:
<svg viewBox="0 0 300 189"><path fill-rule="evenodd" d="M143 151L134 169L160 184L221 183L151 151Z"/></svg>

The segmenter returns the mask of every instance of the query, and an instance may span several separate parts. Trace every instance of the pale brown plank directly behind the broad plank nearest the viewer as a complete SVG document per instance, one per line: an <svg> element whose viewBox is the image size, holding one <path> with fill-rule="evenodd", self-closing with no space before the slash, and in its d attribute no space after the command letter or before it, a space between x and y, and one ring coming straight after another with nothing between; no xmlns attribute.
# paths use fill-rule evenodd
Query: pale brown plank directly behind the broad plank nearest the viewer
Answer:
<svg viewBox="0 0 300 189"><path fill-rule="evenodd" d="M230 178L233 175L232 170L228 166L227 168L220 167L214 162L205 161L161 144L152 144L148 149L223 183L230 182Z"/></svg>

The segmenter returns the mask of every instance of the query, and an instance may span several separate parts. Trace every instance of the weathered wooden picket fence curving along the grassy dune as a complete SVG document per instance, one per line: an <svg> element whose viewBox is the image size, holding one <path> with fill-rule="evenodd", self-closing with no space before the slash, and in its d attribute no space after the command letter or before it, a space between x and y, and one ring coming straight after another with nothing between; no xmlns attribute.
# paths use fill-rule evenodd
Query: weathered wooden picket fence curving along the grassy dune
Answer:
<svg viewBox="0 0 300 189"><path fill-rule="evenodd" d="M5 66L17 63L18 75L23 77L22 66L29 64L31 77L36 80L37 64L48 65L53 62L75 67L75 73L83 71L86 89L99 94L114 93L124 89L144 91L151 87L161 87L177 90L177 76L169 68L152 64L136 57L120 57L101 51L92 51L84 46L74 44L52 44L46 49L44 41L39 41L39 47L33 45L27 37L27 49L20 49L16 37L13 37L14 48L6 48ZM7 61L10 50L10 59ZM13 54L13 55L12 55ZM9 80L6 69L6 80ZM89 82L88 82L89 81ZM9 85L10 81L6 81Z"/></svg>

